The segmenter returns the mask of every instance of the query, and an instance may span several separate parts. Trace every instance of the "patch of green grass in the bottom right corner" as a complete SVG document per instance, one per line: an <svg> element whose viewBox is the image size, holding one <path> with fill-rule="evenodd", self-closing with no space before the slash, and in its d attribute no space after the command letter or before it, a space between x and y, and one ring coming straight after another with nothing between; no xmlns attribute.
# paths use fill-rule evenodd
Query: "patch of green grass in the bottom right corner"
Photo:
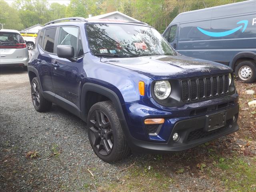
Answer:
<svg viewBox="0 0 256 192"><path fill-rule="evenodd" d="M230 191L256 191L256 159L220 158L216 164L222 169L221 180Z"/></svg>

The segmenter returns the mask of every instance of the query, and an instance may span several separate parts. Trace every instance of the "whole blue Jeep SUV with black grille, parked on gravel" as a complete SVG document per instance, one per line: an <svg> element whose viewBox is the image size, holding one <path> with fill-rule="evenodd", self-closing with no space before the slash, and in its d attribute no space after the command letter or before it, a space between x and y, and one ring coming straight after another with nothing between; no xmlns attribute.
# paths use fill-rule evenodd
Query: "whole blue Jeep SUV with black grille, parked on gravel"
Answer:
<svg viewBox="0 0 256 192"><path fill-rule="evenodd" d="M186 150L238 130L232 69L176 53L142 22L49 22L28 75L34 108L55 103L80 117L106 162L130 150Z"/></svg>

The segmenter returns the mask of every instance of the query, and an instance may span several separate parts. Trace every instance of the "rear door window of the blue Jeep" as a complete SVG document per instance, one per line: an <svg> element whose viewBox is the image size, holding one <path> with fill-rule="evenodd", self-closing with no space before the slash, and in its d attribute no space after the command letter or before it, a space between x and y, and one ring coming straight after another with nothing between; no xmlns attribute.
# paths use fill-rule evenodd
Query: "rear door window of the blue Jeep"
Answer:
<svg viewBox="0 0 256 192"><path fill-rule="evenodd" d="M45 30L43 50L53 53L56 28Z"/></svg>

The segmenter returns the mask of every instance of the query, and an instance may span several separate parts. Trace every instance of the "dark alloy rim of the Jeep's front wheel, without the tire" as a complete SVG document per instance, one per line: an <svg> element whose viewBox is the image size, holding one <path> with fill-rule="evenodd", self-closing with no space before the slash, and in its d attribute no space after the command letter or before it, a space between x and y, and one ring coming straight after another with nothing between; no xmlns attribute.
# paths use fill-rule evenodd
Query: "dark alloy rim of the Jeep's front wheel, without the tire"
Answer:
<svg viewBox="0 0 256 192"><path fill-rule="evenodd" d="M94 110L90 115L90 138L93 146L103 156L111 153L114 137L112 126L106 114L101 110Z"/></svg>

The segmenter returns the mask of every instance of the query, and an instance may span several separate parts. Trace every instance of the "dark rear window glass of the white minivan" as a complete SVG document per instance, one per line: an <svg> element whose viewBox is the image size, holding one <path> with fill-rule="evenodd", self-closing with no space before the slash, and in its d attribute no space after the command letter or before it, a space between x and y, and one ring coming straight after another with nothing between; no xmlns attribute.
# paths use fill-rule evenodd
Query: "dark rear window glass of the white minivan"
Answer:
<svg viewBox="0 0 256 192"><path fill-rule="evenodd" d="M1 45L25 43L22 36L17 33L0 32Z"/></svg>

